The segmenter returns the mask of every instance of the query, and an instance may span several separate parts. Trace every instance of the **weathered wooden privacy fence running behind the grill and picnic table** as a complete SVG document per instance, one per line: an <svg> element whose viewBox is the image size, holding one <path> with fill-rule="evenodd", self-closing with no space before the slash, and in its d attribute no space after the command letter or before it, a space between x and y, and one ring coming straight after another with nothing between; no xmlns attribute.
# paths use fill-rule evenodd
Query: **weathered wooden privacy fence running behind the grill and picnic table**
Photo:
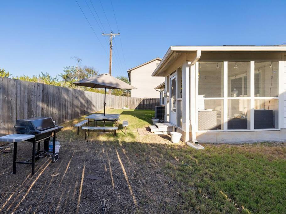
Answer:
<svg viewBox="0 0 286 214"><path fill-rule="evenodd" d="M103 109L104 94L0 77L0 136L14 133L17 119L52 117L57 124ZM158 98L106 95L106 107L151 109Z"/></svg>

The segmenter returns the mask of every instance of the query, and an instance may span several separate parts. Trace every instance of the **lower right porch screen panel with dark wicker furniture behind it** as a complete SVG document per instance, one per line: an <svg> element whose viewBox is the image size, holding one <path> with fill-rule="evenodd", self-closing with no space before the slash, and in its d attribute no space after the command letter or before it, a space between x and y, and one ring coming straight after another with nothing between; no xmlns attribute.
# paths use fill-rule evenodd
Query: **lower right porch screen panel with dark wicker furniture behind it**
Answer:
<svg viewBox="0 0 286 214"><path fill-rule="evenodd" d="M278 128L278 99L255 99L254 128Z"/></svg>

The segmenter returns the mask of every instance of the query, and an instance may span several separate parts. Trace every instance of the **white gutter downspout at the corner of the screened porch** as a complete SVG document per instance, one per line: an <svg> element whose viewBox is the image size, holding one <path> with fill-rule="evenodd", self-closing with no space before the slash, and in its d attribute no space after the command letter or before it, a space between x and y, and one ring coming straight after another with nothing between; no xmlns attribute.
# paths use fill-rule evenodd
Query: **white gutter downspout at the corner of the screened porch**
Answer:
<svg viewBox="0 0 286 214"><path fill-rule="evenodd" d="M188 62L188 65L190 66L190 95L191 95L191 127L192 127L192 142L197 144L197 138L196 138L196 122L195 122L195 115L196 115L196 74L195 70L192 69L192 65L195 65L196 62L200 59L201 57L201 50L197 50L196 58L192 60L191 62Z"/></svg>

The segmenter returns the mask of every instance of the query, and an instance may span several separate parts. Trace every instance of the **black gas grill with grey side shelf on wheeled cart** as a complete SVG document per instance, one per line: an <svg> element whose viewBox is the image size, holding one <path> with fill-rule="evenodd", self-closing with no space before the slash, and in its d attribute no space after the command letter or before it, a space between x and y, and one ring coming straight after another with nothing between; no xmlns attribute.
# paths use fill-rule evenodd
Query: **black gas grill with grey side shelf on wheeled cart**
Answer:
<svg viewBox="0 0 286 214"><path fill-rule="evenodd" d="M10 134L0 137L0 141L13 142L13 174L16 173L16 164L31 164L32 175L35 174L35 160L40 156L49 152L49 141L53 137L52 162L56 162L59 154L55 153L56 133L61 131L62 126L55 125L51 117L34 117L24 120L17 120L14 126L17 134ZM17 161L17 143L27 141L33 143L32 158L24 162ZM44 150L40 150L40 142L44 141ZM38 148L36 152L36 143Z"/></svg>

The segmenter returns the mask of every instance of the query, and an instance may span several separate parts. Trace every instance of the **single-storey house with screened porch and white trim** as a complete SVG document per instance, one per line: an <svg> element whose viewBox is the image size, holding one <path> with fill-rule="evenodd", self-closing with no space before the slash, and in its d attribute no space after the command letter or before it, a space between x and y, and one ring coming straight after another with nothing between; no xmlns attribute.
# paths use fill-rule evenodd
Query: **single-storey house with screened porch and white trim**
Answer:
<svg viewBox="0 0 286 214"><path fill-rule="evenodd" d="M171 46L152 76L185 142L286 140L286 45Z"/></svg>

